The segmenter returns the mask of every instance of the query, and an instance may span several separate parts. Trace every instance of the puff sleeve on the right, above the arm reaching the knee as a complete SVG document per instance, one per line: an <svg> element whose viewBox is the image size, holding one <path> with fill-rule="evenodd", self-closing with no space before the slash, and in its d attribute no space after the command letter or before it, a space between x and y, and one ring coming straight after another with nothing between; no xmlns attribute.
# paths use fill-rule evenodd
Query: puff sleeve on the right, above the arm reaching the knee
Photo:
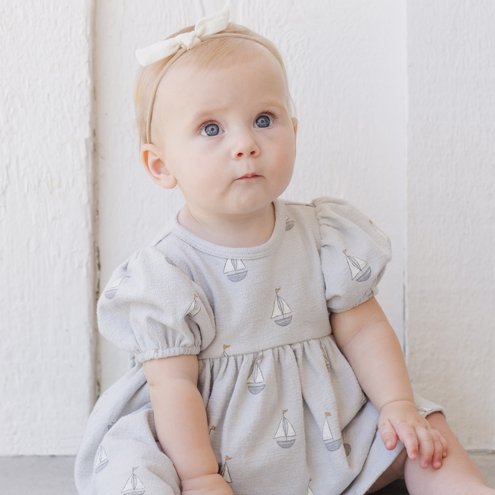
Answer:
<svg viewBox="0 0 495 495"><path fill-rule="evenodd" d="M378 293L392 258L389 238L344 199L313 201L320 228L320 258L330 312L347 311Z"/></svg>

